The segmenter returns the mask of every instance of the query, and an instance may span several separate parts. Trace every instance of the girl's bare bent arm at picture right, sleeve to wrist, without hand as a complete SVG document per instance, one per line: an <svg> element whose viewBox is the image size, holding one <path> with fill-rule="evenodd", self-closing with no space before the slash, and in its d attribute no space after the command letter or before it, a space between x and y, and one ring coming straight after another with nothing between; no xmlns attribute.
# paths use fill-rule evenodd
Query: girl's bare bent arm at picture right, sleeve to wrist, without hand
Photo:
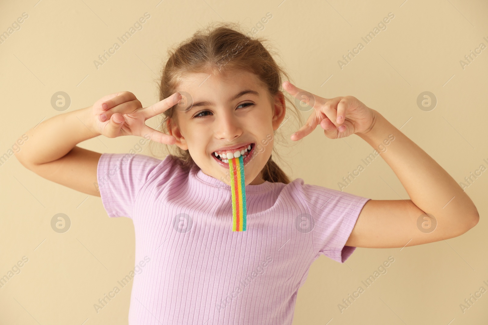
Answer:
<svg viewBox="0 0 488 325"><path fill-rule="evenodd" d="M432 157L383 115L376 112L371 130L358 135L378 152L379 145L387 148L380 155L402 182L410 199L368 201L346 242L347 246L391 248L420 245L459 236L478 223L478 210L468 194ZM385 139L389 142L387 146ZM425 213L431 214L437 225Z"/></svg>

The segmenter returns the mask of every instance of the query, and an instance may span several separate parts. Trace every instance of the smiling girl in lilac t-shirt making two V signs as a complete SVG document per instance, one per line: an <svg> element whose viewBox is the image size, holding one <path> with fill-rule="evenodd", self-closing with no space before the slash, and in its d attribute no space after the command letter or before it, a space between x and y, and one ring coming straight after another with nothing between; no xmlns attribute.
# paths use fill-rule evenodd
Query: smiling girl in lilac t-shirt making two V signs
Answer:
<svg viewBox="0 0 488 325"><path fill-rule="evenodd" d="M344 263L356 247L435 242L478 222L454 179L379 112L353 96L310 94L283 77L262 40L223 24L170 52L160 102L142 108L130 92L111 94L28 131L16 153L24 166L101 196L110 217L132 219L141 272L129 324L291 324L298 289L320 255ZM320 125L331 139L356 134L375 149L387 145L381 155L411 199L371 200L290 181L271 159L286 100L295 109L282 86L313 107L291 140ZM162 132L145 125L156 115ZM100 134L138 135L176 152L160 160L76 146ZM228 154L244 156L246 231L231 230ZM426 231L419 220L436 226Z"/></svg>

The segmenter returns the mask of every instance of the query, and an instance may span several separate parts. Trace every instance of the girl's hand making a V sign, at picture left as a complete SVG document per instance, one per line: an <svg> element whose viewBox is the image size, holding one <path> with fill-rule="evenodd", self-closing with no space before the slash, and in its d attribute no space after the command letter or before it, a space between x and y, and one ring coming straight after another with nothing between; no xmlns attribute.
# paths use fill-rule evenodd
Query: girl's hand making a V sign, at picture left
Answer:
<svg viewBox="0 0 488 325"><path fill-rule="evenodd" d="M119 92L104 96L93 104L93 127L109 138L121 135L150 136L164 144L175 144L176 138L148 127L145 121L178 104L179 93L164 98L154 105L142 108L141 102L131 92Z"/></svg>

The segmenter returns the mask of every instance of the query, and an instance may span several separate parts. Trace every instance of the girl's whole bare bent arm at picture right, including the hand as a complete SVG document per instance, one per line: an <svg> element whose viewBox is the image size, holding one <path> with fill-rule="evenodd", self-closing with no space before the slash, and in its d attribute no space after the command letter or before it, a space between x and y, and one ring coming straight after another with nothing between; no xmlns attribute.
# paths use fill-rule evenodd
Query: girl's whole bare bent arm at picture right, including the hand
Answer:
<svg viewBox="0 0 488 325"><path fill-rule="evenodd" d="M420 245L459 236L478 223L478 210L468 194L383 115L353 96L327 99L289 82L283 87L313 107L306 124L291 135L292 140L310 134L317 125L331 139L357 134L380 153L410 196L405 200L366 202L347 246L394 248ZM382 152L379 146L387 150Z"/></svg>

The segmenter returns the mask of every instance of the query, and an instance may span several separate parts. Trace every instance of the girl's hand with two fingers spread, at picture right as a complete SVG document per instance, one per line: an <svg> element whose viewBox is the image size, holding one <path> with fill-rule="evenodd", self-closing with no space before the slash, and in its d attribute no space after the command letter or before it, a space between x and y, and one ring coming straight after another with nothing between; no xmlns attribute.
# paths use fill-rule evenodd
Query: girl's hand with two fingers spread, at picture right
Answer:
<svg viewBox="0 0 488 325"><path fill-rule="evenodd" d="M289 81L283 83L283 88L297 100L313 107L313 112L305 125L291 135L293 141L310 134L319 124L330 139L367 133L376 120L377 112L356 97L340 96L327 99L297 88Z"/></svg>

